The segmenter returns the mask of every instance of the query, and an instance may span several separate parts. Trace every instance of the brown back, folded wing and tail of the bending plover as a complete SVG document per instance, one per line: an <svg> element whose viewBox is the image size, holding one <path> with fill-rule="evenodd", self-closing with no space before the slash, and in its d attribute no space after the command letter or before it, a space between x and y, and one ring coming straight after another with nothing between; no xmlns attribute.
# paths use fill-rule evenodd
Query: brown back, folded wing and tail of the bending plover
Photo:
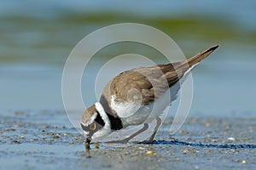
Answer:
<svg viewBox="0 0 256 170"><path fill-rule="evenodd" d="M125 102L127 99L142 100L142 105L148 105L165 94L166 90L182 78L190 67L205 59L215 48L218 46L172 64L150 65L122 72L108 82L101 100L110 104L111 96L115 95L117 102Z"/></svg>

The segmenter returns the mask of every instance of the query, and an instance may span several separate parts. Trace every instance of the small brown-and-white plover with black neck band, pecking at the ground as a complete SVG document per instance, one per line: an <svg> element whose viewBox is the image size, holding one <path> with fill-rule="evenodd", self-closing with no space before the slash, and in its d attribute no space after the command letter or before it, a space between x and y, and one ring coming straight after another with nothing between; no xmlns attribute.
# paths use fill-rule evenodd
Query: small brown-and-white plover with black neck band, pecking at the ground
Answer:
<svg viewBox="0 0 256 170"><path fill-rule="evenodd" d="M126 143L147 130L148 122L156 120L154 131L148 139L148 143L153 143L161 124L160 115L177 98L180 82L216 48L218 45L189 59L135 68L113 77L103 89L100 101L82 114L80 124L86 142L90 144L91 140L107 136L113 131L143 124L143 128L128 138L115 141ZM171 95L171 102L166 102L166 94Z"/></svg>

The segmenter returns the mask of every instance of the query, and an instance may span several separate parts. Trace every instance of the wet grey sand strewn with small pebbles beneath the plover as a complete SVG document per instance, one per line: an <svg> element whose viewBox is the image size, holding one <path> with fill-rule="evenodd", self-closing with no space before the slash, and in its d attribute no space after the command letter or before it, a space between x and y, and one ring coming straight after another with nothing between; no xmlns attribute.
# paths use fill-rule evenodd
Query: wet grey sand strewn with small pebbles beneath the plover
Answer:
<svg viewBox="0 0 256 170"><path fill-rule="evenodd" d="M99 144L62 111L0 113L0 169L256 169L256 117L190 117L170 137L165 123L154 144Z"/></svg>

